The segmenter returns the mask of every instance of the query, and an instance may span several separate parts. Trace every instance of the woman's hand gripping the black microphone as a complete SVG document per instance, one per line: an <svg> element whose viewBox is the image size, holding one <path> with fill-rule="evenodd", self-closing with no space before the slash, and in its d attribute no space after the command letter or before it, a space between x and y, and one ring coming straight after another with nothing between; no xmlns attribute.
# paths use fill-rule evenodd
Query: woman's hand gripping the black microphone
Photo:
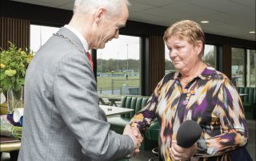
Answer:
<svg viewBox="0 0 256 161"><path fill-rule="evenodd" d="M171 147L169 148L170 158L175 161L190 159L198 151L197 143L194 143L191 147L184 148L177 144L176 140L171 142Z"/></svg>

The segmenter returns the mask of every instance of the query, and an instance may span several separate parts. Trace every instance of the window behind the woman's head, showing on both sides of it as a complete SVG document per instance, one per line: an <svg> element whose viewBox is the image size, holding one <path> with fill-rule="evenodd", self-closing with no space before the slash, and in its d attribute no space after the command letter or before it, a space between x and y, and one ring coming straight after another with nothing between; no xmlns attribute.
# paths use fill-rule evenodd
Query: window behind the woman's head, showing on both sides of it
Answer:
<svg viewBox="0 0 256 161"><path fill-rule="evenodd" d="M216 69L216 55L217 47L215 45L205 45L205 52L202 57L202 61L205 61ZM167 48L167 45L165 45L165 74L175 70L173 63L170 61L169 49Z"/></svg>

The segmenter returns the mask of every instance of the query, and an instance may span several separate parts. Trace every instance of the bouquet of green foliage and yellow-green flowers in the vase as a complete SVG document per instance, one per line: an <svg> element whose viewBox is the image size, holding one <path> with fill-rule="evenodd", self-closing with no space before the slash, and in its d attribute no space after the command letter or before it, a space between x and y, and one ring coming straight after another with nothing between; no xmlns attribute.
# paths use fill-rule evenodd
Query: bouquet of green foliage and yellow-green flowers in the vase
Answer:
<svg viewBox="0 0 256 161"><path fill-rule="evenodd" d="M21 90L25 81L25 74L30 61L34 57L28 49L22 51L10 43L8 50L0 53L0 88L5 92L8 88L13 88L14 92Z"/></svg>

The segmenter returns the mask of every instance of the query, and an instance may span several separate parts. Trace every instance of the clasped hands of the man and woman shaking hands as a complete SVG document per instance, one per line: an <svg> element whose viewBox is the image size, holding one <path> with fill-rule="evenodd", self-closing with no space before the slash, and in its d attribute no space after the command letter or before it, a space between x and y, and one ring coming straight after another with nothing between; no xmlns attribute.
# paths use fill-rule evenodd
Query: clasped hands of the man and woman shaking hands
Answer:
<svg viewBox="0 0 256 161"><path fill-rule="evenodd" d="M137 126L131 127L129 124L127 124L122 135L129 135L134 140L134 155L138 154L143 138Z"/></svg>

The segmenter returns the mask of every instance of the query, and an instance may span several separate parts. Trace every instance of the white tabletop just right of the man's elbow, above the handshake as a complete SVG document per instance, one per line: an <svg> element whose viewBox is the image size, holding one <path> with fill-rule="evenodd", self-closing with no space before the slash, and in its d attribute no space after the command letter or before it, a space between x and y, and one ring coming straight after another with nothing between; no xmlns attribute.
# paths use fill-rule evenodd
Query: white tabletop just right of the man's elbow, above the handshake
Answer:
<svg viewBox="0 0 256 161"><path fill-rule="evenodd" d="M130 108L118 108L118 107L107 106L107 105L99 105L99 107L103 109L103 111L106 113L106 116L120 115L120 114L134 111L134 109L130 109Z"/></svg>

